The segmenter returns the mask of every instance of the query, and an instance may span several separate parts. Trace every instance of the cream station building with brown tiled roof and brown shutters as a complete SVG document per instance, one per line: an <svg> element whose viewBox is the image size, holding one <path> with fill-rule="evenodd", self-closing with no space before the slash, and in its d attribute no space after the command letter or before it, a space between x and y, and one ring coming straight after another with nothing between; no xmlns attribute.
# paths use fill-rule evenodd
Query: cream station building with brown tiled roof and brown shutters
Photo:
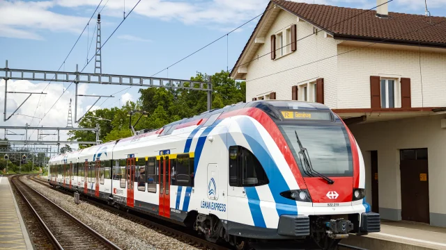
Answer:
<svg viewBox="0 0 446 250"><path fill-rule="evenodd" d="M247 101L317 101L351 128L382 219L446 227L446 18L272 0L231 72Z"/></svg>

